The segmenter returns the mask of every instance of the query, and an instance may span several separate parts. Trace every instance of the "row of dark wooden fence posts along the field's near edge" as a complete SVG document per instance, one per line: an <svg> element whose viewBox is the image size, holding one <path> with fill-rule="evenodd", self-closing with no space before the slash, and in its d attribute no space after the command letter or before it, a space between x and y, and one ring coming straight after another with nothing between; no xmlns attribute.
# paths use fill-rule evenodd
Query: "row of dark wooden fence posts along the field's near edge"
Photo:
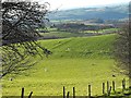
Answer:
<svg viewBox="0 0 131 98"><path fill-rule="evenodd" d="M105 90L107 86L107 91ZM122 79L122 93L126 90L126 79ZM110 94L116 93L116 83L115 81L111 82L111 85L109 84L109 81L107 81L107 85L105 85L105 83L102 84L102 93L103 96L110 96ZM67 95L66 95L67 94ZM76 98L76 90L75 87L73 87L73 96L70 95L70 91L66 91L66 87L63 86L63 98ZM28 98L32 98L33 91L29 93ZM87 86L87 98L94 98L92 96L92 85ZM130 94L131 95L131 94ZM24 87L22 88L22 94L21 94L21 98L24 98Z"/></svg>

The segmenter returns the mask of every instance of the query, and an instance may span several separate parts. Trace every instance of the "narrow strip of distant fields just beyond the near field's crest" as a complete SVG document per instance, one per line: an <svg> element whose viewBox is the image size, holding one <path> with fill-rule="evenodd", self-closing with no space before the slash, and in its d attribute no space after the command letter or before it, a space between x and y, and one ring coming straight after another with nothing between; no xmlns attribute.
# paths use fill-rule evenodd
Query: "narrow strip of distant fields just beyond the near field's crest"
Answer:
<svg viewBox="0 0 131 98"><path fill-rule="evenodd" d="M40 28L39 30L43 30ZM71 33L71 32L61 32L57 28L48 28L48 33L40 33L44 38L70 38L70 37L90 37L95 35L105 35L105 34L115 34L118 28L106 28L96 30L82 30L80 33Z"/></svg>

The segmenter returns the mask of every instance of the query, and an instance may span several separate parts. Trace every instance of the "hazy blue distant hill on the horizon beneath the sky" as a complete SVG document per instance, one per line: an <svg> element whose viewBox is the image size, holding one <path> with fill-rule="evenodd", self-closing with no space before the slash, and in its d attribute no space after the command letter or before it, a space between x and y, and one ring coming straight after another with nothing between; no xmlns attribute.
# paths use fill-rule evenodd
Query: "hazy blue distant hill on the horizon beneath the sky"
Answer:
<svg viewBox="0 0 131 98"><path fill-rule="evenodd" d="M99 8L80 8L72 10L63 10L51 12L48 17L50 20L90 20L90 19L103 19L103 20L121 20L127 19L128 4L110 5Z"/></svg>

